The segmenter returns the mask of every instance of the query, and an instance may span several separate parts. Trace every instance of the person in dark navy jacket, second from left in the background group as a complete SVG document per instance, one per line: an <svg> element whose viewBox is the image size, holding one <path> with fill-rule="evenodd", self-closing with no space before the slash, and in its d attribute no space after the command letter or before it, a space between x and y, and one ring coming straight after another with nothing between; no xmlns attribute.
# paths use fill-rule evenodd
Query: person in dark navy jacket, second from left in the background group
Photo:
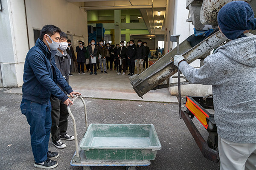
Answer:
<svg viewBox="0 0 256 170"><path fill-rule="evenodd" d="M86 53L86 48L83 46L82 41L79 40L79 46L76 47L76 52L77 52L77 64L78 64L78 74L84 73L84 63L85 63L85 53ZM80 68L81 67L81 68Z"/></svg>

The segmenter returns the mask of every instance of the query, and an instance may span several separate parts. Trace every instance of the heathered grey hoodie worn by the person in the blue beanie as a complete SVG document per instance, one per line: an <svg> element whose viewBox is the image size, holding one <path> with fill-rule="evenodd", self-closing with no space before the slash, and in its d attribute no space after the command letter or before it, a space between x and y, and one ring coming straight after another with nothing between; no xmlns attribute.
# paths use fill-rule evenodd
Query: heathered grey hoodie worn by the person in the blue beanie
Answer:
<svg viewBox="0 0 256 170"><path fill-rule="evenodd" d="M256 143L256 36L219 47L199 69L185 61L179 68L189 82L212 85L215 122L221 138Z"/></svg>

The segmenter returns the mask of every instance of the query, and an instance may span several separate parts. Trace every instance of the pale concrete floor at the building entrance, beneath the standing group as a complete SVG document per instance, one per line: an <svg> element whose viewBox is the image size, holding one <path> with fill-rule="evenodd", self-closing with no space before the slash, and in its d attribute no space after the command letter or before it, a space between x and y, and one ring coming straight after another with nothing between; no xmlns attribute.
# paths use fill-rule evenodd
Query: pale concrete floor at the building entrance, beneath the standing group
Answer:
<svg viewBox="0 0 256 170"><path fill-rule="evenodd" d="M98 99L118 99L118 100L137 100L150 102L170 102L177 103L177 97L171 96L169 89L157 89L149 91L141 99L130 83L128 73L117 75L116 71L108 71L108 74L102 74L99 70L97 75L85 75L73 72L70 76L69 84L74 91L79 91L83 97ZM6 93L22 94L21 88L12 88Z"/></svg>

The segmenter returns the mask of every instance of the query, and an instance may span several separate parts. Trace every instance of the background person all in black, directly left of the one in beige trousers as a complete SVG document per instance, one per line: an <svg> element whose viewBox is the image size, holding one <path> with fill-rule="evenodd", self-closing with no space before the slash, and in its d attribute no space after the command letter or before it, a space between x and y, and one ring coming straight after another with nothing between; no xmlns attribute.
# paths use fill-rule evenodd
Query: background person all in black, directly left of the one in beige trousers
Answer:
<svg viewBox="0 0 256 170"><path fill-rule="evenodd" d="M129 70L130 73L128 76L134 75L134 69L135 69L135 57L136 57L136 45L134 44L134 40L130 40L130 45L128 46L127 49L127 57L128 57L128 65L129 65Z"/></svg>

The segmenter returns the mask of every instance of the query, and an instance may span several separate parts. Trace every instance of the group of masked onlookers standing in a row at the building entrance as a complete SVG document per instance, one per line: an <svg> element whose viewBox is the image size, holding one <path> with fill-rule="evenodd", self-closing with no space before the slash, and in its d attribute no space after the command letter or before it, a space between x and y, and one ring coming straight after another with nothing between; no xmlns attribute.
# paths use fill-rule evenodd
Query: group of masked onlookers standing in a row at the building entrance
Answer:
<svg viewBox="0 0 256 170"><path fill-rule="evenodd" d="M70 40L68 41L71 42ZM87 72L90 70L90 75L97 74L98 66L101 73L105 74L108 73L108 69L112 71L114 67L118 75L125 75L129 67L130 73L128 76L132 76L134 75L135 65L137 67L137 74L140 74L144 68L148 68L148 54L150 49L147 46L147 42L138 40L137 43L135 45L134 40L130 40L125 46L125 42L121 41L121 46L119 44L115 46L109 42L104 44L103 40L95 43L95 40L92 39L89 45L85 46L84 42L79 40L79 46L76 47L78 74L85 74L84 65L86 66ZM75 55L73 51L68 51L68 53L72 56ZM73 74L70 73L70 75L72 76Z"/></svg>

